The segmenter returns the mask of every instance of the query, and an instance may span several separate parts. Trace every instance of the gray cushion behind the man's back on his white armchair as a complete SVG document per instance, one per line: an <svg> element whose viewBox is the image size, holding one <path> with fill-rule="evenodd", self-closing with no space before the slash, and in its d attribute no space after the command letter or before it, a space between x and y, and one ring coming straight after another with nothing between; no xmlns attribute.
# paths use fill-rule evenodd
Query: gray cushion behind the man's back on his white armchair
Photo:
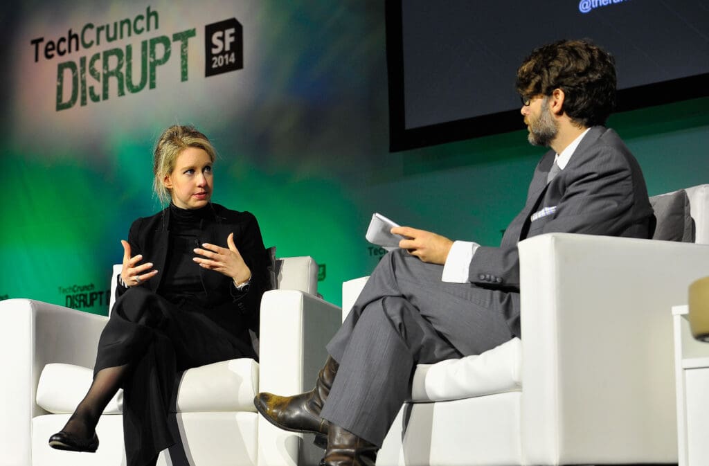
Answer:
<svg viewBox="0 0 709 466"><path fill-rule="evenodd" d="M649 200L657 219L652 239L694 242L694 221L684 189L652 196Z"/></svg>

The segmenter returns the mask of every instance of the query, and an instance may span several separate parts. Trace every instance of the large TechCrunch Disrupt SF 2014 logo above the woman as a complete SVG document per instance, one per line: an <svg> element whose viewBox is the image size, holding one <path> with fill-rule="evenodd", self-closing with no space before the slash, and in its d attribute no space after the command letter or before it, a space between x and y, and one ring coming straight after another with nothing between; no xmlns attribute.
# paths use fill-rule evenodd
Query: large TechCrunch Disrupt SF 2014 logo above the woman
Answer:
<svg viewBox="0 0 709 466"><path fill-rule="evenodd" d="M40 58L52 60L158 28L160 15L148 6L145 14L135 18L101 26L86 23L80 33L69 28L65 37L56 40L35 38L30 40L30 45L33 46L35 62L38 62ZM235 18L205 26L205 35L206 77L243 68L242 26ZM194 37L196 28L191 28L147 38L140 44L129 43L123 48L108 48L90 56L58 63L56 110L108 100L112 89L116 89L114 92L118 97L125 96L126 91L136 94L146 87L155 89L157 68L165 65L173 55L179 54L180 81L187 81L188 45ZM173 49L178 51L173 52Z"/></svg>

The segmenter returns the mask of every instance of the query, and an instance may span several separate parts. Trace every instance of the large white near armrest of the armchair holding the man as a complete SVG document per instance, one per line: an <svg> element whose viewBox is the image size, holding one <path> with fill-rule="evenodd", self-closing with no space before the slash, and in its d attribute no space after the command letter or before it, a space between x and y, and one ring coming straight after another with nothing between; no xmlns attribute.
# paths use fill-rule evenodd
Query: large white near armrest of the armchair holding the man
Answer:
<svg viewBox="0 0 709 466"><path fill-rule="evenodd" d="M709 245L549 233L519 252L525 460L676 462L671 306Z"/></svg>

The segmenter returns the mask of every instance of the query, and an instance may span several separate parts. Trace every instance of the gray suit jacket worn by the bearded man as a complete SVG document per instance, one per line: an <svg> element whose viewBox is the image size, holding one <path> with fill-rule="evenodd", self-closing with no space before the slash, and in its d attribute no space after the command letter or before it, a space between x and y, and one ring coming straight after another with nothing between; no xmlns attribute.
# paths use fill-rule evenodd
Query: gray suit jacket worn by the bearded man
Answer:
<svg viewBox="0 0 709 466"><path fill-rule="evenodd" d="M506 229L500 246L476 250L469 269L471 283L518 293L517 243L542 233L652 237L654 214L640 166L615 131L591 128L568 165L547 184L553 163L550 150L537 165L525 206ZM519 299L510 303L508 324L520 335Z"/></svg>

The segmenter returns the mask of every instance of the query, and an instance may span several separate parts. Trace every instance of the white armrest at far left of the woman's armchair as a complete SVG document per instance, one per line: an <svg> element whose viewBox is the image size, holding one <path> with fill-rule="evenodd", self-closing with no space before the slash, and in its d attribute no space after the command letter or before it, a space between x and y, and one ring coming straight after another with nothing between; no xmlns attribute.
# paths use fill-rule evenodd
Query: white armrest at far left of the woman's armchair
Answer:
<svg viewBox="0 0 709 466"><path fill-rule="evenodd" d="M31 421L37 383L50 362L94 367L108 318L31 299L0 301L0 451L3 465L30 464Z"/></svg>

